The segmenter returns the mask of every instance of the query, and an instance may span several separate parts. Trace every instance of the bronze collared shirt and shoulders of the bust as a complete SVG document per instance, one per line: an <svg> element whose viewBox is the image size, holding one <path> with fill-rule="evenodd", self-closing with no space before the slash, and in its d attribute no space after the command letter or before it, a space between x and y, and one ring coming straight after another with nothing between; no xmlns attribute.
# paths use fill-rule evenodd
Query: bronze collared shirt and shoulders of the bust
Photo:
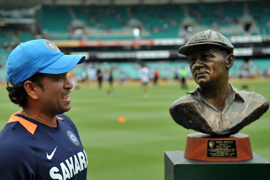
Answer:
<svg viewBox="0 0 270 180"><path fill-rule="evenodd" d="M200 93L200 86L186 92L174 101L170 113L174 121L187 129L212 135L231 135L259 119L269 108L269 101L262 95L237 90L230 83L231 91L220 111Z"/></svg>

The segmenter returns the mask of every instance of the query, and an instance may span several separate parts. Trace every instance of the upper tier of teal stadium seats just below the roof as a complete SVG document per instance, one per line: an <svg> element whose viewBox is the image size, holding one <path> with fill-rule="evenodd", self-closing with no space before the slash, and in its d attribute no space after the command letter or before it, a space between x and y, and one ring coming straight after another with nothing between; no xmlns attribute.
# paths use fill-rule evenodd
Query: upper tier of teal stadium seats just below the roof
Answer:
<svg viewBox="0 0 270 180"><path fill-rule="evenodd" d="M142 38L177 38L186 28L182 27L181 22L191 18L195 20L195 24L192 24L194 28L211 28L230 37L247 33L244 29L246 16L256 21L250 34L269 34L268 11L264 3L254 1L143 6L43 6L42 27L51 34L62 33L62 37L52 36L54 39L68 38L69 24L78 19L85 22L91 32L87 39L133 39L131 32L123 34L121 29L125 29L129 21L135 19L141 24L142 30L147 32L146 35L142 34ZM58 14L65 16L59 17Z"/></svg>

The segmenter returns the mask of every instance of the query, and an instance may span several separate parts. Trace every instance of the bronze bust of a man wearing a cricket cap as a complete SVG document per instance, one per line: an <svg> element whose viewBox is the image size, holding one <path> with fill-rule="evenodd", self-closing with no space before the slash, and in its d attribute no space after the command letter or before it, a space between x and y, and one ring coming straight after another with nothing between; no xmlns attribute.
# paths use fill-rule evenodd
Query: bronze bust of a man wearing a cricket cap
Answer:
<svg viewBox="0 0 270 180"><path fill-rule="evenodd" d="M176 123L213 136L229 136L267 111L269 101L262 95L238 91L228 82L233 48L228 39L212 30L196 33L179 48L188 57L198 86L170 107Z"/></svg>

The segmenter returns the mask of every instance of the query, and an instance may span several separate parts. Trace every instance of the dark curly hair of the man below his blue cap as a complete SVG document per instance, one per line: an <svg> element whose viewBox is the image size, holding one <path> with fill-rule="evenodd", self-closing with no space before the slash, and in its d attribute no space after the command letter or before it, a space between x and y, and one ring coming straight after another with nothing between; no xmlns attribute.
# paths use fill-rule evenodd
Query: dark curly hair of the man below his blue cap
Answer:
<svg viewBox="0 0 270 180"><path fill-rule="evenodd" d="M27 80L24 80L21 83L18 83L17 85L9 85L10 83L8 82L7 84L7 90L8 90L8 96L11 102L14 104L18 104L19 107L23 107L25 104L27 104L27 92L24 89L24 83L25 81L32 81L33 83L36 83L39 85L42 91L44 91L44 86L42 84L42 79L44 78L45 74L44 73L37 73Z"/></svg>

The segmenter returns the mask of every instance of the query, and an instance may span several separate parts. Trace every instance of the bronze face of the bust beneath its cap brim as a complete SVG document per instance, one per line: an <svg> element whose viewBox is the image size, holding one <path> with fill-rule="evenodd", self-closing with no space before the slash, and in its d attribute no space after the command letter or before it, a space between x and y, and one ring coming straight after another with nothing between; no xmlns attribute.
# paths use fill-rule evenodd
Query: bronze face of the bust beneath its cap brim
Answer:
<svg viewBox="0 0 270 180"><path fill-rule="evenodd" d="M215 47L195 46L188 50L190 70L195 82L211 86L226 82L228 69L224 53Z"/></svg>

